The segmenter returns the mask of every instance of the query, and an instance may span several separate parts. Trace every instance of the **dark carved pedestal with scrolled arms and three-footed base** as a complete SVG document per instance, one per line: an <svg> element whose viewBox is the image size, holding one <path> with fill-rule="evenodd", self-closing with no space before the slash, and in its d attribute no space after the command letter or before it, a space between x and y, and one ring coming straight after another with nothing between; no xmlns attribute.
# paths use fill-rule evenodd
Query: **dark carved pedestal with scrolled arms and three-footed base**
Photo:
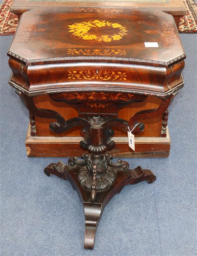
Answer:
<svg viewBox="0 0 197 256"><path fill-rule="evenodd" d="M70 120L64 120L59 113L37 108L33 98L28 97L22 92L16 92L24 100L25 105L33 115L56 119L55 122L50 124L50 129L53 132L63 132L73 126L83 127L85 138L83 141L80 141L80 145L91 154L83 154L82 160L76 157L70 158L68 160L68 166L63 162L50 164L44 169L44 172L47 176L55 174L63 180L69 180L73 188L77 190L85 210L84 248L93 249L95 233L102 211L112 196L119 193L126 185L135 184L144 180L148 181L148 183L152 183L156 179L154 174L149 170L143 170L141 167L130 170L128 169L129 164L125 161L120 159L117 160L117 163L111 161L112 155L105 153L106 150L114 147L114 141L110 138L110 136L113 135L111 127L117 126L120 129L126 130L129 126L130 129L133 130L133 134L140 133L144 129L144 124L135 121L143 120L144 118L151 119L165 112L174 95L171 95L168 99L162 99L157 109L137 112L128 122L127 120L117 118L116 114L113 112L109 112L108 116L105 115L105 108L102 110L104 115L102 115L102 113L101 116L97 115L97 113L90 113L90 107L86 105L86 98L83 99L82 103L78 103L78 105L84 105L82 107L84 118L76 117ZM64 94L61 96L63 95ZM101 95L98 94L97 97L101 98ZM110 98L110 95L108 97ZM67 97L60 97L58 94L52 95L51 98L54 101L67 102ZM144 101L145 98L146 96L136 95L132 100ZM126 99L127 98L125 98L125 100ZM116 102L116 100L117 99L111 99L111 104L114 105L115 109L116 106L126 104L123 103L122 98L118 99L120 102ZM105 98L100 99L100 101L105 103Z"/></svg>

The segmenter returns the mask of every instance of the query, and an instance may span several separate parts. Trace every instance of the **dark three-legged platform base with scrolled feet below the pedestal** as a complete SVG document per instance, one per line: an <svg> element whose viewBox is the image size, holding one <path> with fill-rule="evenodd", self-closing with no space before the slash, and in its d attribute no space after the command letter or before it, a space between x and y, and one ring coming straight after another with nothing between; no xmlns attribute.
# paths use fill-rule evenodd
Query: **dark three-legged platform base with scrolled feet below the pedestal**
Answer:
<svg viewBox="0 0 197 256"><path fill-rule="evenodd" d="M156 177L150 170L142 169L140 166L135 169L122 169L121 166L113 167L113 172L115 173L114 183L107 189L96 190L95 202L91 203L92 191L82 186L79 181L82 168L84 167L81 167L78 164L70 166L60 161L58 163L49 164L49 166L44 169L44 173L47 176L54 174L63 180L68 180L73 189L78 192L85 212L84 248L93 249L98 223L102 212L110 199L115 194L119 193L126 185L132 185L145 180L148 183L153 183L156 180Z"/></svg>

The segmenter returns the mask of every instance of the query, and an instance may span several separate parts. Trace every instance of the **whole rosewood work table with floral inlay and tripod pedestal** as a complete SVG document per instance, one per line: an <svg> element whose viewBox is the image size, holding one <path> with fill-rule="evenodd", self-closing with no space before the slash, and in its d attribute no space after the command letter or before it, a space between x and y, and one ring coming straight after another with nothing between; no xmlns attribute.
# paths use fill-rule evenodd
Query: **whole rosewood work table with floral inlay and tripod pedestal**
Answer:
<svg viewBox="0 0 197 256"><path fill-rule="evenodd" d="M93 248L102 211L112 196L126 185L155 181L150 170L129 169L121 159L113 162L107 151L115 144L114 129L139 134L143 120L167 113L183 87L186 56L174 27L172 16L155 9L109 15L49 8L21 17L8 51L10 85L31 115L49 119L51 131L81 129L80 146L89 152L81 160L72 157L68 164L60 161L44 169L47 176L68 180L78 192L85 210L85 248ZM37 107L35 98L44 94L53 102L76 106L78 115L65 120L52 109ZM118 117L122 107L143 103L148 95L160 99L157 108Z"/></svg>

